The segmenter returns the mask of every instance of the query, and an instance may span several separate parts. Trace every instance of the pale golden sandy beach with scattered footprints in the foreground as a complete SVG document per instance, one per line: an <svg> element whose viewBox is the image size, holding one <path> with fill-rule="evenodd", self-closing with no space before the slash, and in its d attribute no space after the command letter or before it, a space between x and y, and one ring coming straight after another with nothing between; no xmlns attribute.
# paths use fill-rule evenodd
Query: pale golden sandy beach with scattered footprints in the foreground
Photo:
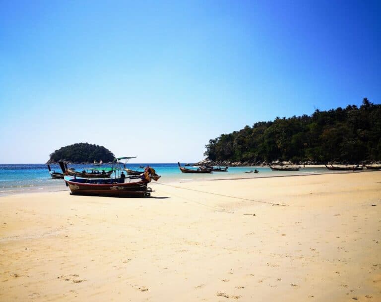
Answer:
<svg viewBox="0 0 381 302"><path fill-rule="evenodd" d="M0 301L381 301L381 172L151 187L0 198Z"/></svg>

